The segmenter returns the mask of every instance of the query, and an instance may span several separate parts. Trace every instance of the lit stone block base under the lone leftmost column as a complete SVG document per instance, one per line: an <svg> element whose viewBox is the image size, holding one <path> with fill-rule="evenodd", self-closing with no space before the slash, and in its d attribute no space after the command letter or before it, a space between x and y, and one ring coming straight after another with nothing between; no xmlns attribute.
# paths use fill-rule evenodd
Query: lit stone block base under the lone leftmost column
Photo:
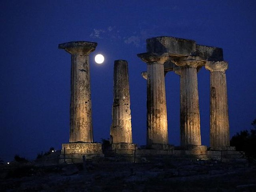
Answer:
<svg viewBox="0 0 256 192"><path fill-rule="evenodd" d="M62 144L60 163L73 162L82 163L83 156L86 159L104 157L101 143L66 143Z"/></svg>

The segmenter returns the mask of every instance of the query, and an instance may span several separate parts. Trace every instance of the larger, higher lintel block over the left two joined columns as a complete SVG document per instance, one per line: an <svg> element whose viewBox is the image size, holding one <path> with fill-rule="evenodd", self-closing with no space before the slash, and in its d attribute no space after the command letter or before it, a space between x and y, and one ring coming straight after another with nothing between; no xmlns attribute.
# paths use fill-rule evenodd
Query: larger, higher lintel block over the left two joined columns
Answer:
<svg viewBox="0 0 256 192"><path fill-rule="evenodd" d="M196 42L194 40L160 36L149 38L146 42L147 52L168 52L173 56L190 56L196 52Z"/></svg>

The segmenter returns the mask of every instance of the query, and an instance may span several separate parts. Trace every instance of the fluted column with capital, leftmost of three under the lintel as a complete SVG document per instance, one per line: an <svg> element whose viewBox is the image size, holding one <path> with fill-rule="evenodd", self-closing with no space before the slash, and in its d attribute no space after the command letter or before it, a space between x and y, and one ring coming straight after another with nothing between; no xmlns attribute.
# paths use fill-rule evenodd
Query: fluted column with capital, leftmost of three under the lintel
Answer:
<svg viewBox="0 0 256 192"><path fill-rule="evenodd" d="M168 144L164 62L168 54L138 54L147 63L147 145Z"/></svg>

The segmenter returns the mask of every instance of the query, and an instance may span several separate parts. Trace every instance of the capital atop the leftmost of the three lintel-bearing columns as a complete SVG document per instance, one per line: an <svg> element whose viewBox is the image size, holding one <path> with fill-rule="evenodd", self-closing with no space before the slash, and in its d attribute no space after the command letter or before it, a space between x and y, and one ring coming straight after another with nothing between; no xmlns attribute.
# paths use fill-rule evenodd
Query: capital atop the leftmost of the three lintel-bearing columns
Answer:
<svg viewBox="0 0 256 192"><path fill-rule="evenodd" d="M146 53L137 54L137 56L147 64L151 64L151 63L164 64L164 62L166 62L169 59L168 53L158 54L153 52L146 52Z"/></svg>

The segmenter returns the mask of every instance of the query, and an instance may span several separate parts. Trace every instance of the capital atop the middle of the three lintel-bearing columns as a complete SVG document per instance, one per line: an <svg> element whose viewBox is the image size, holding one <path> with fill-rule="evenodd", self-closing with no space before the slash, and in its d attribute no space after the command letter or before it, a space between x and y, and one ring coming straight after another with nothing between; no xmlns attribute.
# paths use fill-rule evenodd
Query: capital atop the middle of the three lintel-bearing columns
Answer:
<svg viewBox="0 0 256 192"><path fill-rule="evenodd" d="M172 58L172 62L180 67L200 68L205 65L206 61L203 61L198 56L184 56Z"/></svg>

